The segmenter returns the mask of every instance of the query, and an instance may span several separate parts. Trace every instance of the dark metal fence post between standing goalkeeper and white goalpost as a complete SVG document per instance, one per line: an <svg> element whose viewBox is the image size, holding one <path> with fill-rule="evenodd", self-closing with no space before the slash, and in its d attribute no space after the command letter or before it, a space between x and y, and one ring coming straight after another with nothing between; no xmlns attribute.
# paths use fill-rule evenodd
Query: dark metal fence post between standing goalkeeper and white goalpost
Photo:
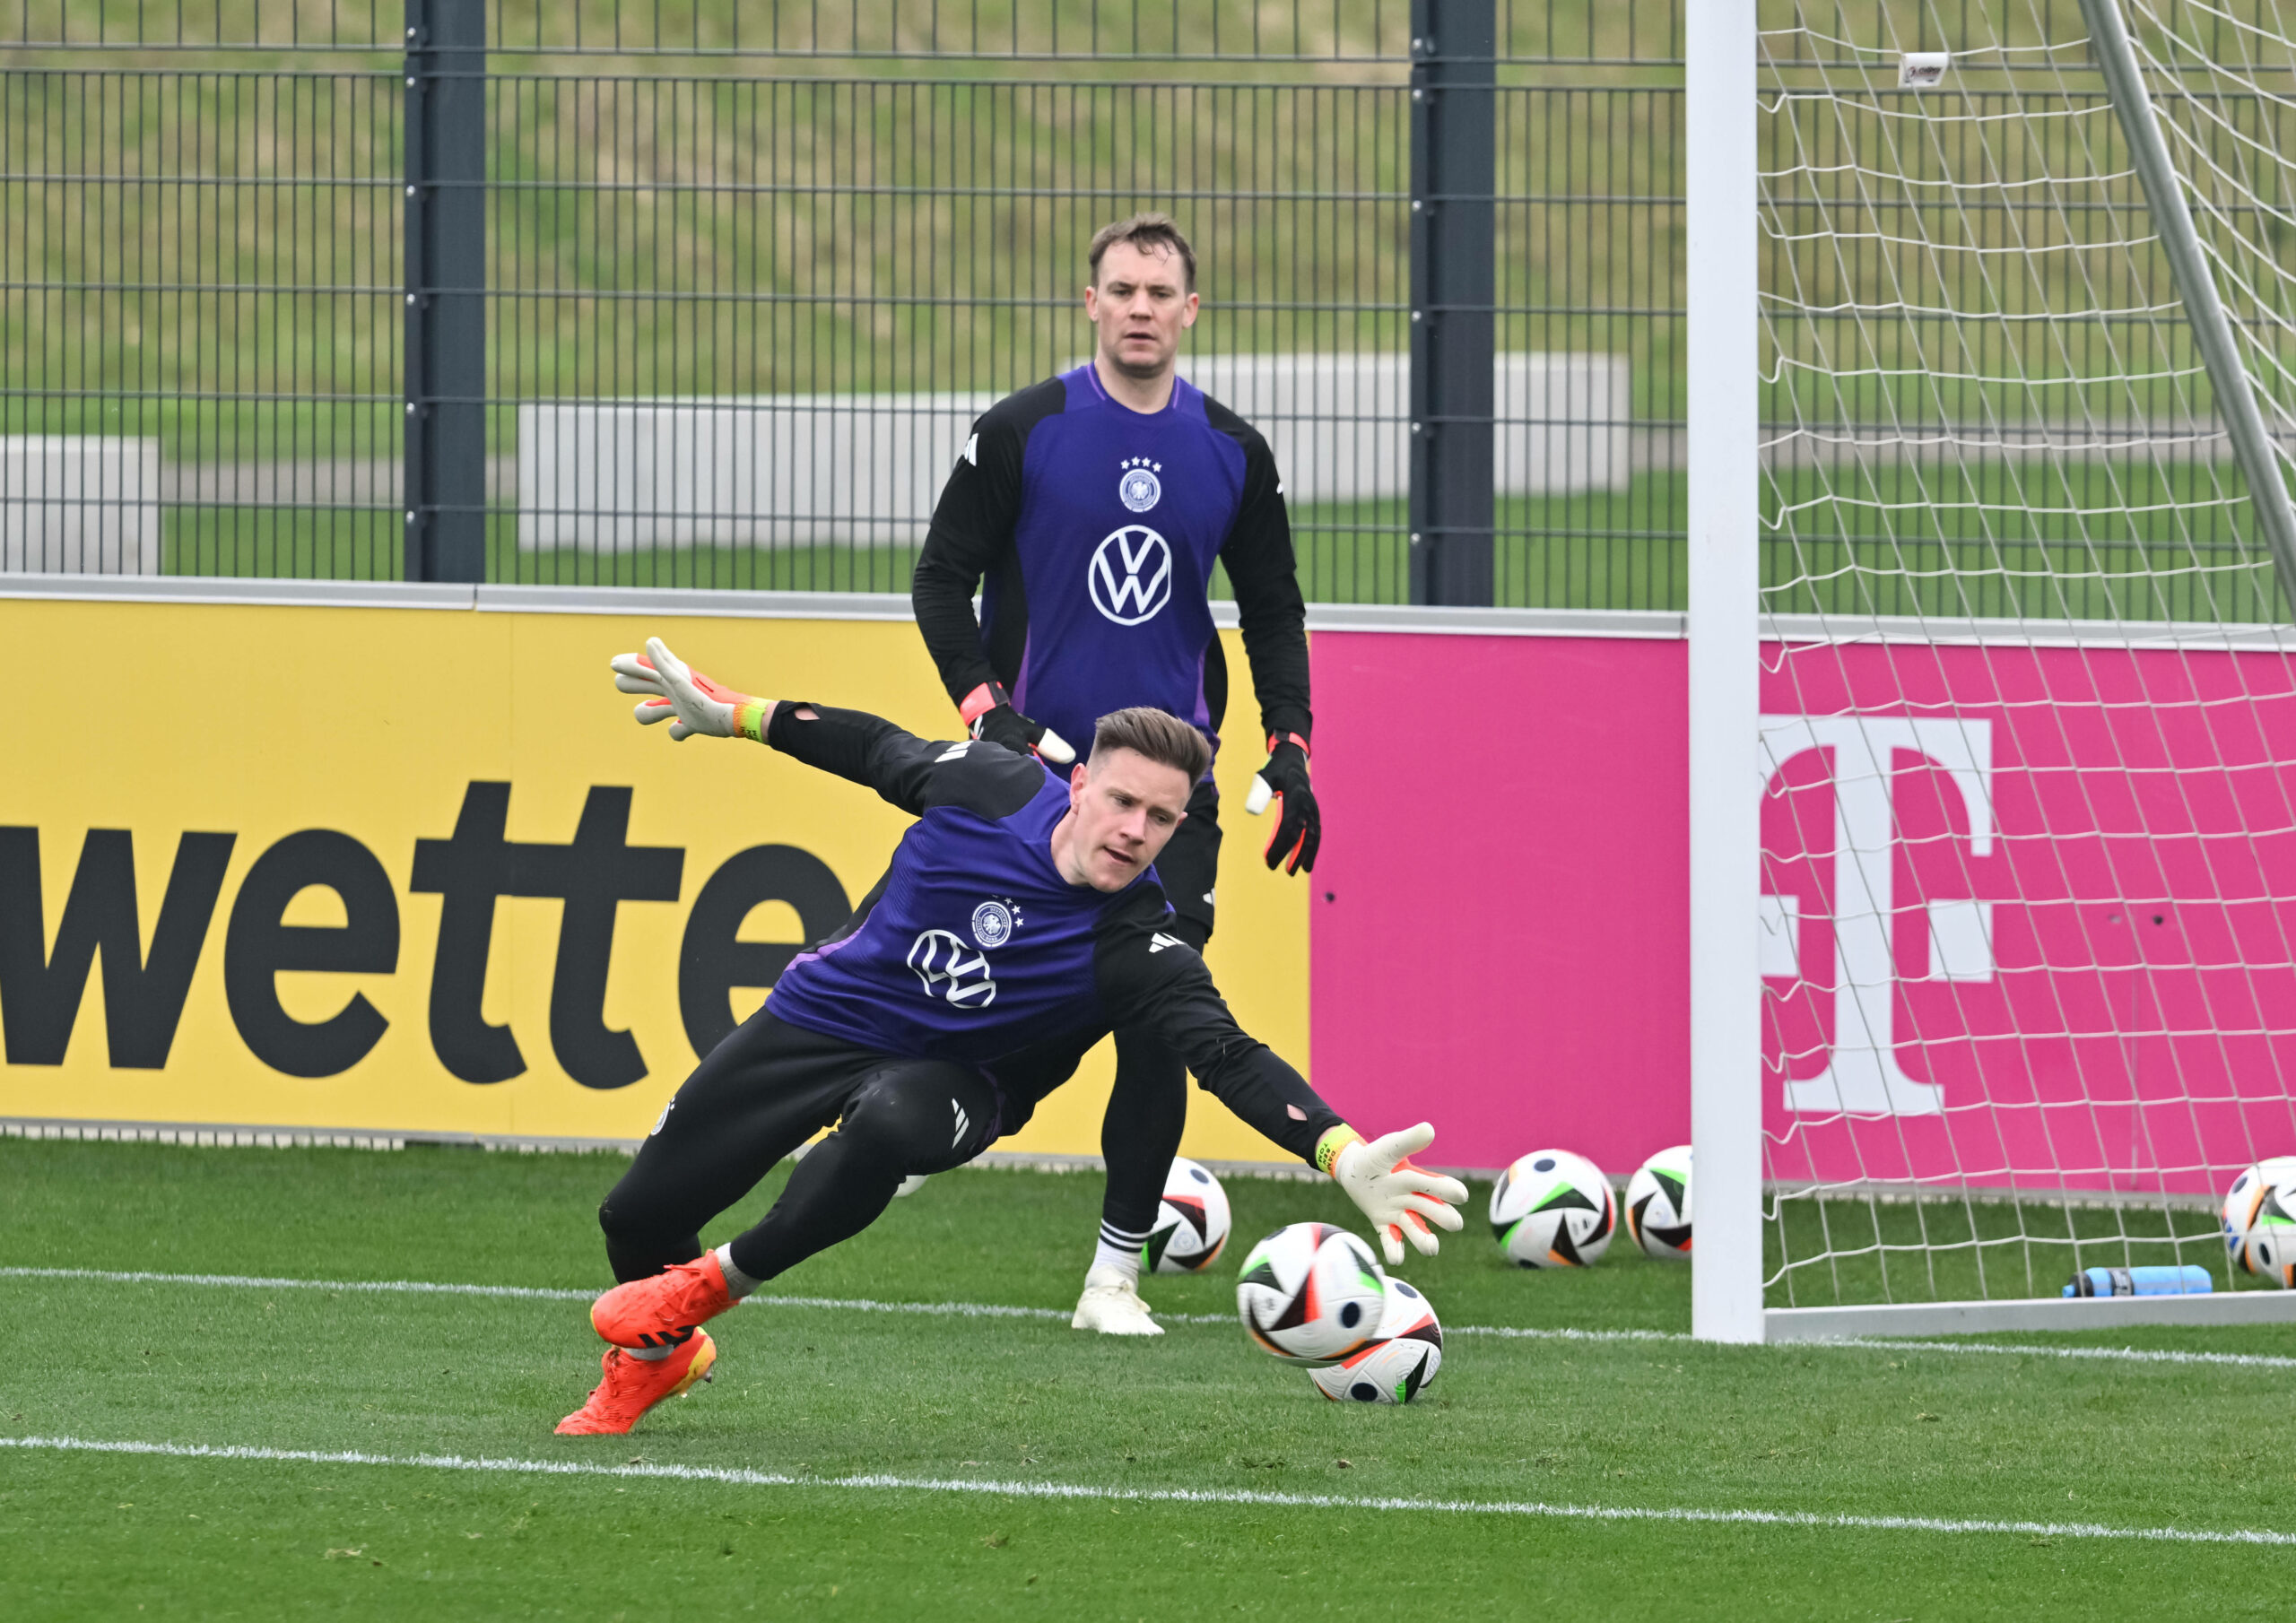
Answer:
<svg viewBox="0 0 2296 1623"><path fill-rule="evenodd" d="M1412 0L1412 601L1492 599L1497 0Z"/></svg>

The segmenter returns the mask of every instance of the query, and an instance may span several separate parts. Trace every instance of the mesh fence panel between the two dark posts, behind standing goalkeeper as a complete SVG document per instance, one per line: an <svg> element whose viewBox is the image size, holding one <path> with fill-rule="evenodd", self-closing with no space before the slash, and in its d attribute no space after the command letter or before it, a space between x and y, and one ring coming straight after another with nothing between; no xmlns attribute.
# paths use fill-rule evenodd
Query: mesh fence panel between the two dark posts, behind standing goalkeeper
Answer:
<svg viewBox="0 0 2296 1623"><path fill-rule="evenodd" d="M533 177L494 200L496 576L905 588L974 416L1091 354L1084 243L1146 207L1318 578L1396 590L1398 90L549 76L494 124Z"/></svg>

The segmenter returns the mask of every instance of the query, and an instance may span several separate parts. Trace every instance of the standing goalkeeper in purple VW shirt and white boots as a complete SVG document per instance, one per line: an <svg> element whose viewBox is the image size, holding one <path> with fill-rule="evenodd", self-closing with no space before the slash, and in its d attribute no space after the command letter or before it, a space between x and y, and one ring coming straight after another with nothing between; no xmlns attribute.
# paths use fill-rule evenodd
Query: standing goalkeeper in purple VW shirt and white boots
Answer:
<svg viewBox="0 0 2296 1623"><path fill-rule="evenodd" d="M1228 670L1208 597L1212 565L1226 565L1267 735L1261 776L1281 797L1267 865L1306 872L1322 822L1306 778L1306 611L1283 482L1267 441L1173 372L1196 324L1196 253L1180 227L1137 213L1102 227L1088 262L1093 360L974 425L916 565L916 624L978 739L1061 762L1063 739L1153 705L1217 746ZM1199 950L1217 863L1219 794L1205 771L1157 859L1173 932ZM1120 1026L1100 1129L1109 1187L1077 1329L1162 1334L1137 1281L1185 1125L1180 1056L1155 1031Z"/></svg>

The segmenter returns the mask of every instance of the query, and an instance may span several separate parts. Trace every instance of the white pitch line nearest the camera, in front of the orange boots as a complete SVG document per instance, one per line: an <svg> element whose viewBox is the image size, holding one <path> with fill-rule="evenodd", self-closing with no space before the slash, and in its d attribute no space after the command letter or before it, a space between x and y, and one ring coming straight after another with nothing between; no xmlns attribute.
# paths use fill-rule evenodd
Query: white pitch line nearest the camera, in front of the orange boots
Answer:
<svg viewBox="0 0 2296 1623"><path fill-rule="evenodd" d="M168 1460L255 1460L273 1465L395 1465L425 1471L503 1471L514 1476L611 1476L723 1483L728 1488L829 1488L925 1494L990 1494L999 1499L1120 1499L1130 1504L1244 1504L1295 1511L1419 1511L1430 1515L1520 1515L1564 1522L1694 1522L1717 1527L1807 1527L1871 1533L2018 1533L2030 1538L2138 1538L2170 1545L2296 1547L2278 1529L2108 1527L2103 1522L1995 1522L1945 1515L1848 1515L1823 1511L1699 1511L1692 1506L1557 1504L1545 1499L1403 1499L1382 1494L1283 1494L1249 1488L1097 1488L1093 1483L969 1481L962 1476L790 1476L712 1465L590 1465L583 1460L505 1460L459 1453L356 1453L324 1449L257 1449L241 1444L101 1442L90 1437L0 1437L0 1449L48 1453L158 1455Z"/></svg>

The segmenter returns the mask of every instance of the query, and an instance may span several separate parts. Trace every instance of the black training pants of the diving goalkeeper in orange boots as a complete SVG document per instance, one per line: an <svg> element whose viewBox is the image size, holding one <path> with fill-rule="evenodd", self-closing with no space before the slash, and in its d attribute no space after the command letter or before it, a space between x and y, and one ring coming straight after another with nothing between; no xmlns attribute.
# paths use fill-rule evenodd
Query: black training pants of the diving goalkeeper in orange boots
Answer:
<svg viewBox="0 0 2296 1623"><path fill-rule="evenodd" d="M946 1173L980 1155L996 1116L996 1088L980 1072L824 1038L774 1019L767 1001L693 1067L597 1210L613 1276L645 1279L698 1258L703 1224L836 1123L765 1221L732 1242L735 1267L774 1279L877 1221L909 1173Z"/></svg>

